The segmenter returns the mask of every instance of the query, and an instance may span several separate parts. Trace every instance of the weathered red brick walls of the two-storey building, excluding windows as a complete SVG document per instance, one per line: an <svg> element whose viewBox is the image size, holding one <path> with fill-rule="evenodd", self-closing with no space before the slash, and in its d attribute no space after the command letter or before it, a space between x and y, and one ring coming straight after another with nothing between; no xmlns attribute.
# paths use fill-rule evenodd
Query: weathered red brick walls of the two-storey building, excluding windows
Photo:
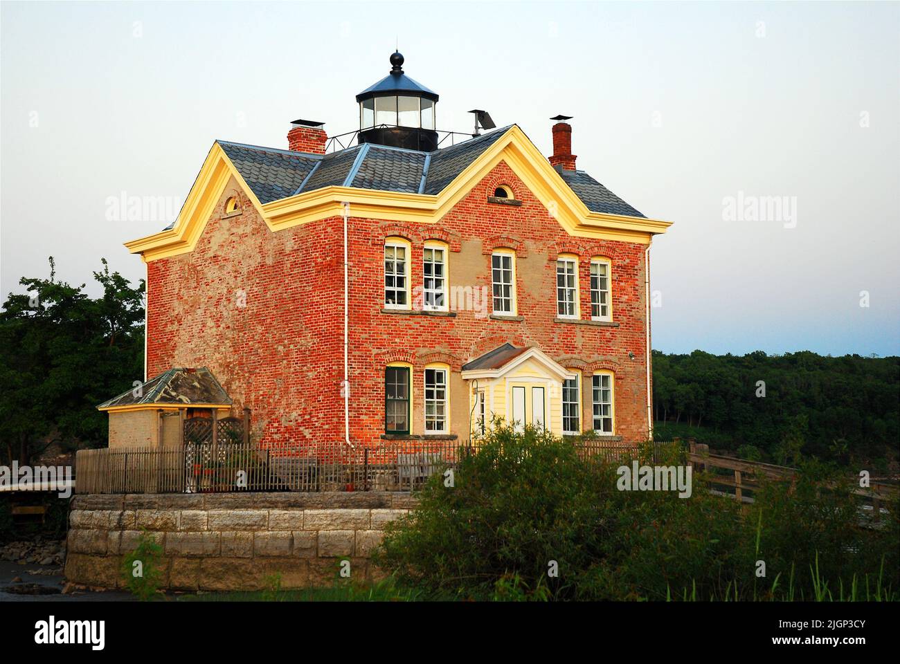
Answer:
<svg viewBox="0 0 900 664"><path fill-rule="evenodd" d="M573 166L574 157L572 157ZM521 205L490 202L504 184ZM238 194L241 211L223 215ZM533 345L583 372L583 422L590 422L590 375L615 372L616 435L647 436L645 245L572 237L506 163L491 170L437 224L349 220L350 426L355 441L384 433L384 367L413 365L421 395L428 362L451 367L451 434L469 435L463 363L506 342ZM517 254L518 317L383 311L383 243L410 240L411 286L422 286L423 243L446 242L454 286L491 287L491 250ZM555 259L580 257L581 320L556 320ZM613 325L590 321L590 258L612 262ZM255 440L297 444L344 436L343 220L272 232L232 179L192 252L148 263L148 376L173 366L208 366L239 412L253 410ZM491 313L490 301L488 311ZM413 310L418 309L415 305ZM632 354L633 357L630 357ZM412 434L422 434L413 399Z"/></svg>

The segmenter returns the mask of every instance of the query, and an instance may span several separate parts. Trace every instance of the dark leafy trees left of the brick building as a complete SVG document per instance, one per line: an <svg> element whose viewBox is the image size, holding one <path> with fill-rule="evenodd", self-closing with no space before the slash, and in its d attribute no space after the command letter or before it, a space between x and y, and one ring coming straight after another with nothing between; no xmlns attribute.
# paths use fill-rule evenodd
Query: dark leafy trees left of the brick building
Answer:
<svg viewBox="0 0 900 664"><path fill-rule="evenodd" d="M144 281L137 287L105 259L85 284L23 277L27 294L10 293L0 311L0 455L28 463L54 442L97 446L106 417L96 405L143 380Z"/></svg>

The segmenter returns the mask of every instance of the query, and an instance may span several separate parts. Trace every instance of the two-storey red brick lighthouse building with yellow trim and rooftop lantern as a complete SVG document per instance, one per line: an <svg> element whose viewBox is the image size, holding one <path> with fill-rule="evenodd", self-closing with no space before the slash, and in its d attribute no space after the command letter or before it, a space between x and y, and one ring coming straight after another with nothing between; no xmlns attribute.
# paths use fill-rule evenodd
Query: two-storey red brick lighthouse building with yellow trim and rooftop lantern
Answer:
<svg viewBox="0 0 900 664"><path fill-rule="evenodd" d="M648 250L670 224L576 169L563 116L549 159L516 125L441 139L402 62L357 95L356 145L311 121L288 149L216 141L173 226L128 243L145 378L208 367L262 444L492 417L646 439Z"/></svg>

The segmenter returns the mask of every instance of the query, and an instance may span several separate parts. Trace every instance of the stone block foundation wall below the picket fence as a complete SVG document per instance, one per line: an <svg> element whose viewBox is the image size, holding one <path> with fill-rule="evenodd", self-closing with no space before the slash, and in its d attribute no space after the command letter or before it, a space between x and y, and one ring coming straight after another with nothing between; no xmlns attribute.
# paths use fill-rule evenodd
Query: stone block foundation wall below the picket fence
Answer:
<svg viewBox="0 0 900 664"><path fill-rule="evenodd" d="M373 580L384 525L415 506L388 492L76 496L66 578L121 588L122 558L146 529L165 552L165 588L257 590L276 573L282 588L328 585L344 559L352 579Z"/></svg>

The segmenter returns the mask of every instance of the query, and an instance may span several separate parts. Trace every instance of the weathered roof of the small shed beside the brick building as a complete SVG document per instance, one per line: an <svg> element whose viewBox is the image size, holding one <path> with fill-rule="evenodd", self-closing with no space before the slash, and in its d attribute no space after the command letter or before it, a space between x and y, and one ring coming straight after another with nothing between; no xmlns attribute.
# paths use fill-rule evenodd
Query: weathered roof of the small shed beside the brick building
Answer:
<svg viewBox="0 0 900 664"><path fill-rule="evenodd" d="M98 409L117 406L140 406L154 404L215 404L230 406L228 396L220 382L205 366L200 369L169 369L140 386L139 396L135 389L122 392L119 396L103 401Z"/></svg>

